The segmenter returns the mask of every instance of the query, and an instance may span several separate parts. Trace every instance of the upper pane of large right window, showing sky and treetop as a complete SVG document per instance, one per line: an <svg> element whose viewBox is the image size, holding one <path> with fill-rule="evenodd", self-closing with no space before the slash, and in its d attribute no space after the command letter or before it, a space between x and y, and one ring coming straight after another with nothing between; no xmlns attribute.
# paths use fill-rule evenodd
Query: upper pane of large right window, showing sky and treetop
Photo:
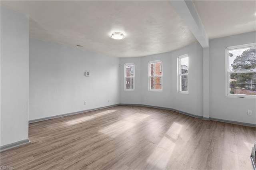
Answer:
<svg viewBox="0 0 256 170"><path fill-rule="evenodd" d="M228 50L229 71L256 70L256 47Z"/></svg>

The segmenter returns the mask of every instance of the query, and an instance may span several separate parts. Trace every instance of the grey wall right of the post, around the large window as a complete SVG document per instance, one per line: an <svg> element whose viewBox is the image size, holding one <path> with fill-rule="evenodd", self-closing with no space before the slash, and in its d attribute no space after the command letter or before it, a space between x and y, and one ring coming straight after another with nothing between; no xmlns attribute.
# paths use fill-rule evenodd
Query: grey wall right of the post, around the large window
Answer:
<svg viewBox="0 0 256 170"><path fill-rule="evenodd" d="M225 48L256 42L256 32L210 40L210 117L256 124L256 100L226 97ZM252 110L252 115L247 115Z"/></svg>

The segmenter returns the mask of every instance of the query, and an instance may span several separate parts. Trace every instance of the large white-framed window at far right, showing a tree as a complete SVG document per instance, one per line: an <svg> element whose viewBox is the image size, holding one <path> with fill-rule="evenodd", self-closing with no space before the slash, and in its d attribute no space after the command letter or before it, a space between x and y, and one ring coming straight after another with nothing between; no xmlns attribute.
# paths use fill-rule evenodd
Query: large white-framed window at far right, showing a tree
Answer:
<svg viewBox="0 0 256 170"><path fill-rule="evenodd" d="M256 43L226 48L226 94L256 98Z"/></svg>

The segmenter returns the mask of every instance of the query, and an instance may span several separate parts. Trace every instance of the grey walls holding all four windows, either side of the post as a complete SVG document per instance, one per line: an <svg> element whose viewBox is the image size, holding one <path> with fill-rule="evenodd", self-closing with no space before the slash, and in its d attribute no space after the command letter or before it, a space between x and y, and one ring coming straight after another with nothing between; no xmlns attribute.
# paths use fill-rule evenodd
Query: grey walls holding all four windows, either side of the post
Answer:
<svg viewBox="0 0 256 170"><path fill-rule="evenodd" d="M256 124L256 100L226 97L225 47L256 42L256 32L210 40L210 118ZM177 93L177 57L189 55L189 94ZM203 50L194 43L171 51L120 59L120 103L167 107L203 116ZM163 91L148 91L148 61L162 59ZM135 91L124 91L124 63L136 64ZM146 97L146 101L144 98ZM247 115L252 110L252 116Z"/></svg>

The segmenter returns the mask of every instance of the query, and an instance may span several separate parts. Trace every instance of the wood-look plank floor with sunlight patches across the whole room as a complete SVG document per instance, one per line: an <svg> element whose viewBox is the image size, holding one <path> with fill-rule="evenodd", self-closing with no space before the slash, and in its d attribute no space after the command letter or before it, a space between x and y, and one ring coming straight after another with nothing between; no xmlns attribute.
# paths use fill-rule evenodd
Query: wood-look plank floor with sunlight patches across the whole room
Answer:
<svg viewBox="0 0 256 170"><path fill-rule="evenodd" d="M256 128L117 106L29 125L1 166L33 170L252 169Z"/></svg>

